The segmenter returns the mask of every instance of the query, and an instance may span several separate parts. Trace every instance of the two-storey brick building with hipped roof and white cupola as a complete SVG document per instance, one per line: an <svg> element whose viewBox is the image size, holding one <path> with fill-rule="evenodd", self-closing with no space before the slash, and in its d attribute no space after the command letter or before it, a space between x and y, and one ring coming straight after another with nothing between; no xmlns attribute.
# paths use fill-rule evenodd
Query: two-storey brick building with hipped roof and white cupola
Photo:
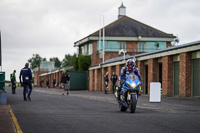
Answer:
<svg viewBox="0 0 200 133"><path fill-rule="evenodd" d="M171 46L175 38L151 26L126 16L123 4L119 7L118 19L105 26L105 41L103 48L103 29L75 42L79 55L90 55L92 66L99 65L104 60L120 57L119 50L127 51L126 55L151 52ZM99 36L100 35L100 36Z"/></svg>

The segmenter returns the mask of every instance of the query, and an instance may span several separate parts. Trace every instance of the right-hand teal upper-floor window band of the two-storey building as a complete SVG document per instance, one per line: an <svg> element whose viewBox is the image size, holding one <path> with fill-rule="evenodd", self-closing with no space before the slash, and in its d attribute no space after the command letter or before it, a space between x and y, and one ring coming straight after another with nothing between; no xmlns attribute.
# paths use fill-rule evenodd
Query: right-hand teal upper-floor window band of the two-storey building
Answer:
<svg viewBox="0 0 200 133"><path fill-rule="evenodd" d="M166 42L138 42L138 52L152 52L165 49L166 46Z"/></svg>

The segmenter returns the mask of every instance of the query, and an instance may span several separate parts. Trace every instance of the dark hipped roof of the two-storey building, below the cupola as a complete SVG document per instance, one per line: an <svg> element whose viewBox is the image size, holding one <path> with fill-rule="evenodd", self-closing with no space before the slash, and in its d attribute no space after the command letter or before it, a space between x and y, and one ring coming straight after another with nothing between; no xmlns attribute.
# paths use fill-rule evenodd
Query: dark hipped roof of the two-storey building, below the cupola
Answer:
<svg viewBox="0 0 200 133"><path fill-rule="evenodd" d="M102 29L101 32L101 35L103 35ZM84 42L89 41L91 37L96 37L96 40L98 40L99 30L75 42L74 44L75 46L77 44L80 45ZM123 16L105 26L105 37L175 38L173 34L165 33L128 16Z"/></svg>

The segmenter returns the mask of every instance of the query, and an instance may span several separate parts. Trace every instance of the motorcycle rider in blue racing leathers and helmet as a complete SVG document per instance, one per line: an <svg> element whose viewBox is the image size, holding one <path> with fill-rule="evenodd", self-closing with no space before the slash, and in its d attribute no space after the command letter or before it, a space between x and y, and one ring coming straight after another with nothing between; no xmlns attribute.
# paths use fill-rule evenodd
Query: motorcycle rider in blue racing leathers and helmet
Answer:
<svg viewBox="0 0 200 133"><path fill-rule="evenodd" d="M127 60L127 64L125 67L122 67L121 69L121 73L119 75L119 89L118 89L118 100L119 100L119 94L121 92L121 87L122 87L122 84L125 82L125 77L126 75L129 75L131 73L134 73L136 76L138 76L140 82L142 82L142 78L140 76L140 73L139 73L139 70L137 67L135 67L136 63L134 60L132 59L128 59ZM138 92L137 92L137 95L138 95Z"/></svg>

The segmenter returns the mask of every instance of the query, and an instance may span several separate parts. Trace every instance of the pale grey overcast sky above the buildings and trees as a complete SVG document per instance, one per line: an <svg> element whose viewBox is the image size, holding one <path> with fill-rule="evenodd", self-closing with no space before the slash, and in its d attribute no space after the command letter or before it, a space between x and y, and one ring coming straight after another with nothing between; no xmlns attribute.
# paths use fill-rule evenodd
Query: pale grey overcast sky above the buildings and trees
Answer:
<svg viewBox="0 0 200 133"><path fill-rule="evenodd" d="M117 19L122 0L0 0L3 71L6 79L33 54L73 54L74 42ZM127 16L179 36L180 44L200 40L200 0L123 0Z"/></svg>

